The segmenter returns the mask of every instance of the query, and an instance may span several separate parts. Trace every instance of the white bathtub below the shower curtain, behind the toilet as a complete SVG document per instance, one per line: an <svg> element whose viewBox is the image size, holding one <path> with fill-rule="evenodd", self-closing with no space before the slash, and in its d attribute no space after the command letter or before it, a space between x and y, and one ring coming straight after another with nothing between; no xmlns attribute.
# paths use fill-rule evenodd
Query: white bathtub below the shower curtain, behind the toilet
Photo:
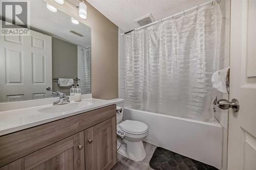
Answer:
<svg viewBox="0 0 256 170"><path fill-rule="evenodd" d="M207 123L131 108L123 114L123 120L147 124L144 141L221 169L223 128L217 120Z"/></svg>

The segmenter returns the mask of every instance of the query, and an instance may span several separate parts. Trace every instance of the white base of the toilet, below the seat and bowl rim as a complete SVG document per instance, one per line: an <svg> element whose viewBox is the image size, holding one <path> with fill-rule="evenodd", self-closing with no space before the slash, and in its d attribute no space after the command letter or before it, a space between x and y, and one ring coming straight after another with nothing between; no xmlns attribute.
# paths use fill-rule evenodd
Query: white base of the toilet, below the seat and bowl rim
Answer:
<svg viewBox="0 0 256 170"><path fill-rule="evenodd" d="M118 153L134 161L142 161L146 157L146 152L141 140L128 141L124 138L122 147L118 150Z"/></svg>

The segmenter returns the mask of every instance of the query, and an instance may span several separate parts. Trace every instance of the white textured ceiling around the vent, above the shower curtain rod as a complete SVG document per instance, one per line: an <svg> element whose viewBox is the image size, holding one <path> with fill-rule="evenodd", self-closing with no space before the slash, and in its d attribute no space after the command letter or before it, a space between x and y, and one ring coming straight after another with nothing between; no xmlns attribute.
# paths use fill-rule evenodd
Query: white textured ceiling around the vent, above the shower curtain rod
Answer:
<svg viewBox="0 0 256 170"><path fill-rule="evenodd" d="M210 1L210 0L208 0ZM87 0L123 31L139 26L135 19L151 13L155 20L208 2L207 0ZM88 16L90 17L90 16Z"/></svg>

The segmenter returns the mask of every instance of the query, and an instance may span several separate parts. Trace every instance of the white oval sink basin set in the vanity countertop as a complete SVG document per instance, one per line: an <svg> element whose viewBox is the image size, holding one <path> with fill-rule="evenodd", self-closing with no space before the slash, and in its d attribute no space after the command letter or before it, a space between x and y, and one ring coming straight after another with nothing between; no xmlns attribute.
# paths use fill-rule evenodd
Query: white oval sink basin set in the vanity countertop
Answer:
<svg viewBox="0 0 256 170"><path fill-rule="evenodd" d="M70 111L81 110L82 108L86 108L91 105L93 105L93 103L91 102L72 102L65 105L57 105L57 106L42 108L42 109L39 109L38 112L41 112L41 113L70 112Z"/></svg>

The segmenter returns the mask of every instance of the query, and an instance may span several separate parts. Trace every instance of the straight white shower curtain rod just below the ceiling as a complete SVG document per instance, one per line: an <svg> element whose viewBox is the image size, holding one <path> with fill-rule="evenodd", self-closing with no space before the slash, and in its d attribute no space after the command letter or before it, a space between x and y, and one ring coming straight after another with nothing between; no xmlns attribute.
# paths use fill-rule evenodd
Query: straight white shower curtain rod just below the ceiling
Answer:
<svg viewBox="0 0 256 170"><path fill-rule="evenodd" d="M161 21L166 20L166 19L169 19L169 18L173 18L173 17L175 17L175 16L177 16L177 15L180 15L180 14L185 15L185 13L188 12L188 11L191 11L191 10L194 10L194 9L197 9L197 10L198 10L199 7L202 7L202 6L207 5L207 4L210 4L210 3L211 3L211 5L213 5L214 2L219 3L219 1L221 1L221 0L212 0L212 1L209 1L209 2L207 2L207 3L201 4L201 5L197 5L196 7L193 7L193 8L187 9L187 10L184 10L184 11L182 11L182 12L176 13L176 14L171 15L171 16L168 16L168 17L166 17L166 18L157 20L157 21L155 21L155 22L148 23L148 24L145 25L145 26L142 26L142 27L139 27L139 28L137 28L137 29L134 29L134 30L125 32L125 33L123 33L123 34L121 34L121 35L126 35L126 34L129 34L129 33L133 32L133 31L136 31L136 30L140 30L140 29L143 29L143 28L146 28L146 27L153 26L153 25L155 25L155 24L158 23L158 22L161 22Z"/></svg>

